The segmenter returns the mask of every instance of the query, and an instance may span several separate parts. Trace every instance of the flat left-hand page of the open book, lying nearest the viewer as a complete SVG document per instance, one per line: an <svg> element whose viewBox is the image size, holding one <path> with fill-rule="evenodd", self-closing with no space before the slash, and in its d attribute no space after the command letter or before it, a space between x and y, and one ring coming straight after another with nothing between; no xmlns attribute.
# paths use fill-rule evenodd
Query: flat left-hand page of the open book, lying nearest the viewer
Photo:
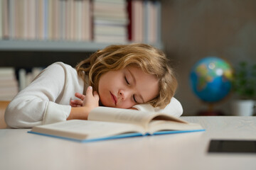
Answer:
<svg viewBox="0 0 256 170"><path fill-rule="evenodd" d="M77 140L110 137L127 132L140 132L144 134L143 128L134 124L108 123L91 120L68 120L60 123L38 125L33 127L31 131Z"/></svg>

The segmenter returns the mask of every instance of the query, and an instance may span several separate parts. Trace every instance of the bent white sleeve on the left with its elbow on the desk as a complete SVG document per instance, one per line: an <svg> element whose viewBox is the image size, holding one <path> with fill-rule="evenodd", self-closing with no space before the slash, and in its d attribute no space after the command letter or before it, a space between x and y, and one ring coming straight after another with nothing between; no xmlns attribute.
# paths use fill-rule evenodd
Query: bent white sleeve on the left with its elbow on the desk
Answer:
<svg viewBox="0 0 256 170"><path fill-rule="evenodd" d="M63 97L66 79L63 63L44 69L6 108L6 124L11 128L31 128L66 120L71 106L55 103Z"/></svg>

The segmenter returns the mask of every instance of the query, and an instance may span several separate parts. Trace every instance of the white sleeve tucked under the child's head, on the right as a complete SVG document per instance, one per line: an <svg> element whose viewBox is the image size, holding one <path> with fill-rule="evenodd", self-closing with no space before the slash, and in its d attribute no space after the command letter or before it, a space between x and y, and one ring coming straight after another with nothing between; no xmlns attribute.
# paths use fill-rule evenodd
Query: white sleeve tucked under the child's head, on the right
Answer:
<svg viewBox="0 0 256 170"><path fill-rule="evenodd" d="M171 102L164 109L158 107L154 108L150 104L139 104L135 105L133 108L137 108L139 111L168 113L175 117L179 117L183 113L181 103L176 98L171 98Z"/></svg>

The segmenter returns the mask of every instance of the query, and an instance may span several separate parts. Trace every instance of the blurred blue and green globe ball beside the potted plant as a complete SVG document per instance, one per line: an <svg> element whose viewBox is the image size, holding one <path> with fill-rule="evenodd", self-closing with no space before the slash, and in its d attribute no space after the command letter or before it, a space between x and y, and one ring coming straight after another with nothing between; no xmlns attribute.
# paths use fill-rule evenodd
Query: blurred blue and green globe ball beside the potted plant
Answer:
<svg viewBox="0 0 256 170"><path fill-rule="evenodd" d="M205 57L191 69L191 88L202 101L215 103L227 96L232 87L233 68L219 57Z"/></svg>

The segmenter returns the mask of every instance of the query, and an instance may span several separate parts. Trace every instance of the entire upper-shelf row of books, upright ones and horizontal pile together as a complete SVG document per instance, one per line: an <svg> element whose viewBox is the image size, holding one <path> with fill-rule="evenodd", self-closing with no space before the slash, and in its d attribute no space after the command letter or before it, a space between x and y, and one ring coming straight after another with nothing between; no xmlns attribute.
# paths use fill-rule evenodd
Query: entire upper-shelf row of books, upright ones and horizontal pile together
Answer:
<svg viewBox="0 0 256 170"><path fill-rule="evenodd" d="M0 0L0 39L161 42L161 2Z"/></svg>

